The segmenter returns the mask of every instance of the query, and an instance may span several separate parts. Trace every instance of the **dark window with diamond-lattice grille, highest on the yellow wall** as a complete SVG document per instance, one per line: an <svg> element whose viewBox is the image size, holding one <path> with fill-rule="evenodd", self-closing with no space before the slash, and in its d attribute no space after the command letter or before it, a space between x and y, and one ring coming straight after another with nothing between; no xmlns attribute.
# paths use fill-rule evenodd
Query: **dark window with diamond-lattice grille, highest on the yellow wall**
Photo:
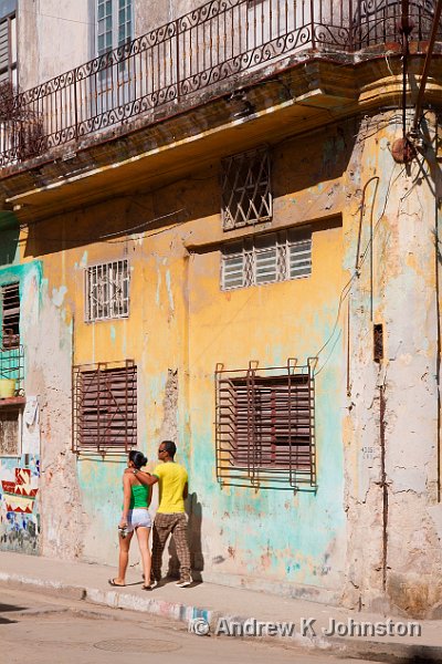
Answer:
<svg viewBox="0 0 442 664"><path fill-rule="evenodd" d="M222 159L222 227L241 228L272 219L267 147Z"/></svg>

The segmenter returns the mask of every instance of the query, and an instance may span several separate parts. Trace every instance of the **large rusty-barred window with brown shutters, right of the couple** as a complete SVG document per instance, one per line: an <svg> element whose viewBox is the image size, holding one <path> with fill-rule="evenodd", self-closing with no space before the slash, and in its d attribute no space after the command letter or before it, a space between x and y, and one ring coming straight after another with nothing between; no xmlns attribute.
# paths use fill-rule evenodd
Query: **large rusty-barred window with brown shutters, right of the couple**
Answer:
<svg viewBox="0 0 442 664"><path fill-rule="evenodd" d="M306 365L215 370L217 478L222 485L316 490L316 357Z"/></svg>

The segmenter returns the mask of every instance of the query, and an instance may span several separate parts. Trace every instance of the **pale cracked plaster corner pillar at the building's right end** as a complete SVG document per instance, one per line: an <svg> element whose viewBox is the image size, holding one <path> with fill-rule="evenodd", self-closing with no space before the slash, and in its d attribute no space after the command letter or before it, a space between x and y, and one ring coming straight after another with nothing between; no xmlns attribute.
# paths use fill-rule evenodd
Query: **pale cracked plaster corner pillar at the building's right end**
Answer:
<svg viewBox="0 0 442 664"><path fill-rule="evenodd" d="M431 120L429 124L432 132ZM409 168L396 164L390 148L398 136L400 126L391 114L362 123L346 174L349 271L356 260L362 188L369 178L380 179L366 188L364 258L350 295L345 436L349 574L344 599L423 616L442 600L441 540L430 511L436 500L439 445L433 197L439 167L433 147L425 155L430 166L421 157ZM372 288L366 251L371 215ZM372 360L373 323L383 324L380 364ZM434 507L436 513L440 508Z"/></svg>

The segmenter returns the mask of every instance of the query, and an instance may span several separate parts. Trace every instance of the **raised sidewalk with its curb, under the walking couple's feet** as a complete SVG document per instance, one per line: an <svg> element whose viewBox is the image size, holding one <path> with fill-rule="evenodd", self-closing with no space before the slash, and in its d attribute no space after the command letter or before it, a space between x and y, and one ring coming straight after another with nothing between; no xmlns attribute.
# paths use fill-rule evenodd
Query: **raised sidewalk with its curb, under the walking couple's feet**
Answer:
<svg viewBox="0 0 442 664"><path fill-rule="evenodd" d="M306 647L332 649L349 656L400 662L442 662L442 621L418 621L407 618L392 616L392 631L410 629L410 623L420 626L421 635L359 635L360 623L387 623L389 616L369 613L357 613L315 602L277 598L261 592L199 583L190 588L176 588L173 582L167 582L152 591L141 590L139 572L129 569L127 583L122 589L113 589L107 579L114 577L115 568L69 562L22 556L20 553L0 552L0 588L1 585L25 588L44 594L56 594L72 600L141 611L179 620L189 624L193 630L209 629L215 633L217 625L225 634L229 621L236 623L249 621L244 629L246 636L253 636L256 631L255 621L273 623L291 623L291 635L269 635L264 639L283 639ZM167 580L169 581L169 580ZM225 620L223 620L225 619ZM219 622L221 620L221 622ZM204 621L208 623L206 625ZM311 621L303 622L303 621ZM330 635L330 621L340 624L340 634ZM352 622L351 622L352 621ZM312 629L308 629L311 625ZM399 625L406 625L400 627ZM232 627L240 630L241 626ZM352 634L351 634L352 631ZM326 632L326 633L324 633Z"/></svg>

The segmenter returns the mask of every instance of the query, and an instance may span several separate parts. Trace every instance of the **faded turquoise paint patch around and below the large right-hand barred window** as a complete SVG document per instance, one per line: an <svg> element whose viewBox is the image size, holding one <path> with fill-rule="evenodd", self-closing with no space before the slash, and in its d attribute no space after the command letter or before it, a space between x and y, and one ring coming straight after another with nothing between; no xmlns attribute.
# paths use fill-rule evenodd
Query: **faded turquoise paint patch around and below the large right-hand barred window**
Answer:
<svg viewBox="0 0 442 664"><path fill-rule="evenodd" d="M190 492L199 504L197 523L201 523L201 548L210 550L210 560L200 561L208 570L246 577L336 589L343 573L344 556L335 556L345 536L344 459L340 408L339 362L336 351L333 366L320 376L316 400L317 491L221 487L215 479L212 423L208 417L192 428ZM318 377L319 382L319 377ZM214 392L214 383L213 383ZM213 408L207 391L199 407ZM192 535L199 550L198 538ZM202 556L201 551L201 556Z"/></svg>

